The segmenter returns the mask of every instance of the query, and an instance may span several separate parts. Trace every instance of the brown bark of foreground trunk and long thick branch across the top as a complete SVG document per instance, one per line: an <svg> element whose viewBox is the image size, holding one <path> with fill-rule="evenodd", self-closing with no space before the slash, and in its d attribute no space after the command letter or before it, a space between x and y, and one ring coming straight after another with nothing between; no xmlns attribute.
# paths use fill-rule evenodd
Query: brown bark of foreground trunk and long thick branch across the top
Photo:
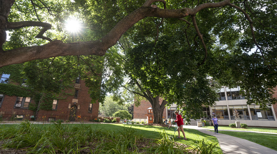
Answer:
<svg viewBox="0 0 277 154"><path fill-rule="evenodd" d="M134 10L132 13L122 18L114 28L99 40L91 40L87 42L63 43L60 40L52 41L50 38L42 36L42 34L51 28L51 25L45 22L22 21L9 23L7 18L10 8L14 0L0 0L0 67L24 63L35 59L47 59L57 56L66 55L105 55L107 49L115 45L131 26L146 17L158 18L184 18L187 15L194 16L200 10L211 7L222 7L231 4L229 0L217 3L204 3L195 8L182 8L175 10L160 9L153 2L163 2L164 0L147 0L143 6ZM36 38L42 38L50 41L42 46L21 47L13 50L3 51L2 45L6 41L6 30L22 28L26 26L42 26L44 27ZM200 38L201 39L201 38Z"/></svg>

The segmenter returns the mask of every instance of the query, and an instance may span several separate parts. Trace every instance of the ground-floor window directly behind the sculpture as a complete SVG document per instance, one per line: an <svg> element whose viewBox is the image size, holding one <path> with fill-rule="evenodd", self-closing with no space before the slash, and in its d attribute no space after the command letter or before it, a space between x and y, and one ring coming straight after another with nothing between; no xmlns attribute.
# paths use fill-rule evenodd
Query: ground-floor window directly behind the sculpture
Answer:
<svg viewBox="0 0 277 154"><path fill-rule="evenodd" d="M235 120L235 109L238 111L239 119L250 120L247 105L229 105L231 120Z"/></svg>

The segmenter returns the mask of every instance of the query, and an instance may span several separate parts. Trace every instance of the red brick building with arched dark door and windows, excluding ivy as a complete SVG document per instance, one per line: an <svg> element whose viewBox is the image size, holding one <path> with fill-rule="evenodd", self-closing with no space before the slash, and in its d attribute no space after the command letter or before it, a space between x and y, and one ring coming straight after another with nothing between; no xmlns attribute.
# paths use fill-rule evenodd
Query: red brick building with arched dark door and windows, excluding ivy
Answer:
<svg viewBox="0 0 277 154"><path fill-rule="evenodd" d="M0 75L0 84L14 84L10 82L8 74ZM42 121L44 116L46 121L51 120L70 120L75 121L78 115L81 115L81 120L89 121L98 117L99 103L91 104L90 94L88 94L88 87L85 82L76 79L74 84L74 95L66 96L66 99L53 100L52 110L39 110L37 119ZM18 84L17 84L18 85ZM20 84L19 84L20 85ZM21 84L26 86L26 84ZM10 120L15 115L15 120L33 120L30 116L34 115L34 111L29 110L29 104L33 103L30 97L10 96L0 93L0 114L2 113L2 120Z"/></svg>

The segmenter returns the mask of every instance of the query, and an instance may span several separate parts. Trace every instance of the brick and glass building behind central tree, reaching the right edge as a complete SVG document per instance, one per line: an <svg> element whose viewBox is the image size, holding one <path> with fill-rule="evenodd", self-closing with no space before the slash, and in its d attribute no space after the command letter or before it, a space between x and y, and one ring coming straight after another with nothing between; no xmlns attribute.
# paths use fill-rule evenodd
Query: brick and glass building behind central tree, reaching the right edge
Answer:
<svg viewBox="0 0 277 154"><path fill-rule="evenodd" d="M238 111L238 120L241 124L247 124L248 126L277 127L277 104L267 104L267 110L260 109L259 105L256 104L248 105L247 100L239 94L239 90L239 87L221 87L218 90L219 100L216 101L213 106L203 106L203 111L206 112L207 116L210 118L216 115L217 119L220 120L220 125L235 123L236 120L233 111L236 110ZM273 95L275 98L277 98L276 91L277 87ZM150 102L144 100L139 107L134 107L134 121L145 121L148 107L151 107ZM171 107L165 108L163 116L175 118L175 110L176 104L173 104Z"/></svg>

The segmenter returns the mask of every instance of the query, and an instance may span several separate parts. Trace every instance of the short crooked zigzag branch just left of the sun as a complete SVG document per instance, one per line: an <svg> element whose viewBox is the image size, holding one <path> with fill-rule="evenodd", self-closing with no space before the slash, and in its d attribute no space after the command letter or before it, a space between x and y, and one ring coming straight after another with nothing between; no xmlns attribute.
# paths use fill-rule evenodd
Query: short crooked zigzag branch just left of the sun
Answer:
<svg viewBox="0 0 277 154"><path fill-rule="evenodd" d="M52 40L50 38L42 36L46 32L46 30L50 30L51 29L52 26L51 26L50 23L38 22L38 21L9 22L6 30L9 30L9 29L19 29L19 28L30 27L30 26L43 27L42 30L40 30L40 32L35 36L35 38L46 39L49 42L52 42Z"/></svg>

